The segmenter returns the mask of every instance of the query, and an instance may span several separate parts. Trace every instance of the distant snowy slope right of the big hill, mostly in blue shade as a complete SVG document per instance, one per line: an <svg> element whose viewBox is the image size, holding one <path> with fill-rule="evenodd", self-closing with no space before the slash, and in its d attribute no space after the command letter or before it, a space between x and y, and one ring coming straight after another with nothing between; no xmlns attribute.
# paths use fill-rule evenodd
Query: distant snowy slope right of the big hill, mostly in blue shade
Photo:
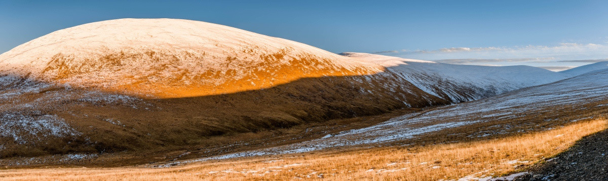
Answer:
<svg viewBox="0 0 608 181"><path fill-rule="evenodd" d="M341 54L387 67L388 71L396 73L423 91L454 103L552 83L568 77L531 66L469 66L368 53Z"/></svg>

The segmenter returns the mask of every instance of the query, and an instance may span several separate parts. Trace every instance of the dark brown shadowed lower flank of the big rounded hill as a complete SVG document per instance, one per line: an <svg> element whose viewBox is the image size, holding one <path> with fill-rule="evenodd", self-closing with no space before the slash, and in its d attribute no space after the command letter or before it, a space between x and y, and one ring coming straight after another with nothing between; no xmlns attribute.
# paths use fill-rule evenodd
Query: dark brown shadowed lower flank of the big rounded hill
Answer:
<svg viewBox="0 0 608 181"><path fill-rule="evenodd" d="M18 86L5 86L5 89L15 87ZM62 92L68 91L49 88L38 94L23 95L28 96L23 100L36 101L29 97ZM71 89L69 92L86 91ZM255 137L261 131L449 103L390 73L303 78L257 91L142 101L150 106L136 108L120 102L89 103L67 98L39 110L22 111L58 115L82 134L44 137L32 144L11 143L9 137L3 137L7 149L2 157L74 152L170 152L230 145L240 142L243 135Z"/></svg>

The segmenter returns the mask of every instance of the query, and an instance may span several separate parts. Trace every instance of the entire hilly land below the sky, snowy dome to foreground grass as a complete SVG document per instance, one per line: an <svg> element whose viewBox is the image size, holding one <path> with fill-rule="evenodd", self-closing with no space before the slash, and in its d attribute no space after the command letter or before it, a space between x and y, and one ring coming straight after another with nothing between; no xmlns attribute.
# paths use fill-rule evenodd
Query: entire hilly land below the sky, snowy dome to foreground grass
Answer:
<svg viewBox="0 0 608 181"><path fill-rule="evenodd" d="M0 67L0 179L608 179L608 62L444 64L115 19Z"/></svg>

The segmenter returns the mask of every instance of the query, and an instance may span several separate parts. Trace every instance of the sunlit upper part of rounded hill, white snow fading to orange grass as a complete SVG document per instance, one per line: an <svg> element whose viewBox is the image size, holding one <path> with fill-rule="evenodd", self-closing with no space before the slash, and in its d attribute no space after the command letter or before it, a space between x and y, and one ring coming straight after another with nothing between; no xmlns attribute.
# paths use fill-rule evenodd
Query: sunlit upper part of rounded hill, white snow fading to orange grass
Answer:
<svg viewBox="0 0 608 181"><path fill-rule="evenodd" d="M226 94L381 70L287 39L183 19L92 22L0 55L2 75L159 97Z"/></svg>

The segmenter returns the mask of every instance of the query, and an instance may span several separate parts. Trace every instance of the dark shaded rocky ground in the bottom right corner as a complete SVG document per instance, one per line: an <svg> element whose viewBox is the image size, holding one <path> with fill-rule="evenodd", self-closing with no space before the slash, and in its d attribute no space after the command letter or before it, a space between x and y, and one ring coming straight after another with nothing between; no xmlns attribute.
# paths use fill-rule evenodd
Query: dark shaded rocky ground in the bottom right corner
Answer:
<svg viewBox="0 0 608 181"><path fill-rule="evenodd" d="M528 172L515 180L608 180L608 130L582 138Z"/></svg>

